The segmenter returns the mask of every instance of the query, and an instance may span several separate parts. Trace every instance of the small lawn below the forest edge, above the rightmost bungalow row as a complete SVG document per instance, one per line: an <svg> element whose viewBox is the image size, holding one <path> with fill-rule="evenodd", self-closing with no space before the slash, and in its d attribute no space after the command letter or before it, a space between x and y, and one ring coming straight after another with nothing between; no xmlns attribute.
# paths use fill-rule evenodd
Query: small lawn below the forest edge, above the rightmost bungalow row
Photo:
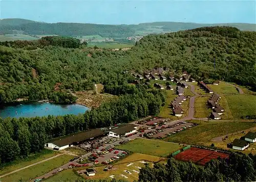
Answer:
<svg viewBox="0 0 256 182"><path fill-rule="evenodd" d="M225 82L220 82L219 85L208 84L208 86L218 94L239 94L236 87Z"/></svg>

